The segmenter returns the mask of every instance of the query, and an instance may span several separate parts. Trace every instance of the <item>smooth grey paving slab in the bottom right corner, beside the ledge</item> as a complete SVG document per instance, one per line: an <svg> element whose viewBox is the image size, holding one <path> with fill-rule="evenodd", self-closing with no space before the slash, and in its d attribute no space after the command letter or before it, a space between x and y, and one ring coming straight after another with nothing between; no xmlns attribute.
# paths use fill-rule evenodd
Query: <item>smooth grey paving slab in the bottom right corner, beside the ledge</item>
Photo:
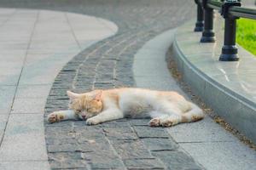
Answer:
<svg viewBox="0 0 256 170"><path fill-rule="evenodd" d="M206 169L252 169L255 165L255 150L244 147L240 141L184 143L181 145L184 150L189 150L189 154ZM209 153L211 153L210 156Z"/></svg>

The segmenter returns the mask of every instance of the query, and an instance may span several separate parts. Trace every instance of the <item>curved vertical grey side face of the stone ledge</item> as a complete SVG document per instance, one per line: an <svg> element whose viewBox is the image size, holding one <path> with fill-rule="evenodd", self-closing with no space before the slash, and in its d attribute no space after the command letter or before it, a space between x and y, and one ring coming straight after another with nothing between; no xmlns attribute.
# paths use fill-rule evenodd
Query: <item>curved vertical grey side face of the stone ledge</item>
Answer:
<svg viewBox="0 0 256 170"><path fill-rule="evenodd" d="M178 47L176 37L177 32L172 44L173 58L177 63L177 69L183 75L183 81L188 83L195 94L198 94L226 122L256 143L256 131L253 130L256 127L256 108L253 104L197 69L196 65L189 62L182 49Z"/></svg>

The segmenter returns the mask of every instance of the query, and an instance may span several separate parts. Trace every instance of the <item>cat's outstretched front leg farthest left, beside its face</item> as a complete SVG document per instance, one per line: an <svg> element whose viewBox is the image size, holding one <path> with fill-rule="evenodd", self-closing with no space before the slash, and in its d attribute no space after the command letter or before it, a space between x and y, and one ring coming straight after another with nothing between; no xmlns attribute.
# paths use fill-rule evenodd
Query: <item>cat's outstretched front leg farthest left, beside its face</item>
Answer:
<svg viewBox="0 0 256 170"><path fill-rule="evenodd" d="M47 121L50 123L61 122L66 120L78 120L78 116L75 115L74 111L54 111L47 116Z"/></svg>

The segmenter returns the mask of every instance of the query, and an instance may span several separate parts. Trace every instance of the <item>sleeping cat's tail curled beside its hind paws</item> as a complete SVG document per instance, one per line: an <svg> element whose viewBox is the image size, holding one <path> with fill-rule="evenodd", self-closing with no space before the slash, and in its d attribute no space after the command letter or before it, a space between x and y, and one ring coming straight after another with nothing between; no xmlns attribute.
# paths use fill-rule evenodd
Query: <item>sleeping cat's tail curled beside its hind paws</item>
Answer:
<svg viewBox="0 0 256 170"><path fill-rule="evenodd" d="M190 110L183 113L182 122L196 122L205 117L205 114L197 105L189 102Z"/></svg>

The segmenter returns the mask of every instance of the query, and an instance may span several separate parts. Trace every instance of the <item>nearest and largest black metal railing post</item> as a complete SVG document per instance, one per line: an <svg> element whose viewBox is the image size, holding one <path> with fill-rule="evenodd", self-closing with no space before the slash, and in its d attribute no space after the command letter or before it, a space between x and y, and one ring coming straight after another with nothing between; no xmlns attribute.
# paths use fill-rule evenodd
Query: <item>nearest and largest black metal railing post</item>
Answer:
<svg viewBox="0 0 256 170"><path fill-rule="evenodd" d="M237 61L239 59L236 48L236 20L229 14L229 8L232 6L241 6L241 3L237 0L226 0L222 6L222 15L225 20L224 28L224 46L222 48L222 54L219 56L221 61Z"/></svg>

